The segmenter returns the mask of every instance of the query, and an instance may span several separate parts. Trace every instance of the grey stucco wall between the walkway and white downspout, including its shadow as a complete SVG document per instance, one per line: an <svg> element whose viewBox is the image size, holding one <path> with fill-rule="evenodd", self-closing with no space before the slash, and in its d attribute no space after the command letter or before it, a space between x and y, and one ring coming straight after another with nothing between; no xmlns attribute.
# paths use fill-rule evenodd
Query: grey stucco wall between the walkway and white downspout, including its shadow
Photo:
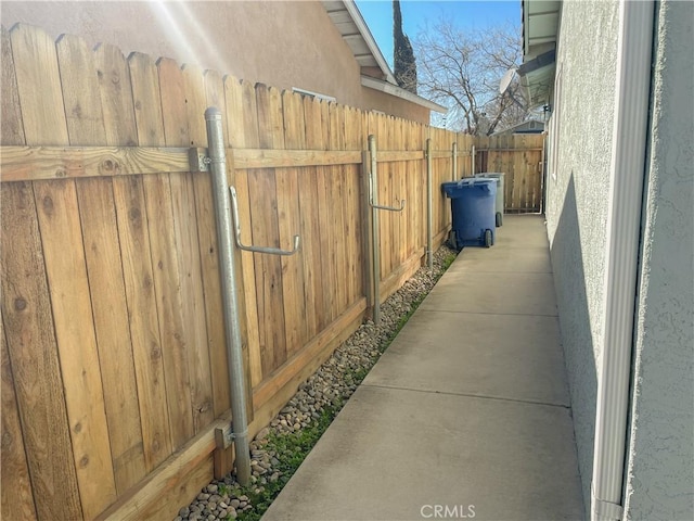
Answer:
<svg viewBox="0 0 694 521"><path fill-rule="evenodd" d="M586 511L603 344L617 30L617 2L563 3L557 40L562 94L553 116L561 131L545 214Z"/></svg>

